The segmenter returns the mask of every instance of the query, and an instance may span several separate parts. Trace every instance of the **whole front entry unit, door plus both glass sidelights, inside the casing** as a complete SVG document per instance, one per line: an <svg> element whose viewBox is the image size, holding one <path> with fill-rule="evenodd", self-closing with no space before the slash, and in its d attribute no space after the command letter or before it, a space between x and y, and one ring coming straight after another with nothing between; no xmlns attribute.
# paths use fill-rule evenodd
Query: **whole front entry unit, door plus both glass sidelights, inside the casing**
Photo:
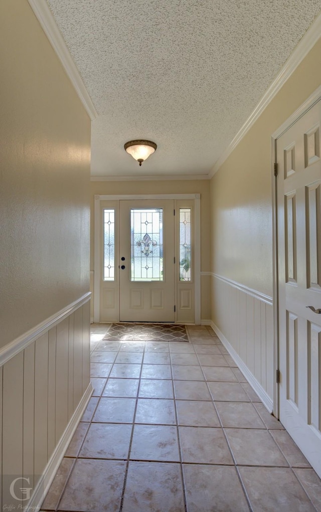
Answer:
<svg viewBox="0 0 321 512"><path fill-rule="evenodd" d="M95 197L95 322L196 322L199 198L128 197Z"/></svg>

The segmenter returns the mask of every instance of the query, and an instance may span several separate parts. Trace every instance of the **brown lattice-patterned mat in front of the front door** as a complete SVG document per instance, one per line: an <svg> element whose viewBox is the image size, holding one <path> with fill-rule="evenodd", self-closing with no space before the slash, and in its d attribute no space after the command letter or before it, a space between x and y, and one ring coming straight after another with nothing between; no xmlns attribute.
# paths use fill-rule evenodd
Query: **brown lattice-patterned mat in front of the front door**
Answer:
<svg viewBox="0 0 321 512"><path fill-rule="evenodd" d="M104 340L126 342L187 342L184 325L112 324Z"/></svg>

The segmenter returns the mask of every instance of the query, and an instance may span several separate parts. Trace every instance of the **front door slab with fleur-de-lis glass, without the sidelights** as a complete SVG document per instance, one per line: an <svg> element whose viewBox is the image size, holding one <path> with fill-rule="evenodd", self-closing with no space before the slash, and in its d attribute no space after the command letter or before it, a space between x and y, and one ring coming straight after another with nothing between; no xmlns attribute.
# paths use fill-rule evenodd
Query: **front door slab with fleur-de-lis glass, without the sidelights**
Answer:
<svg viewBox="0 0 321 512"><path fill-rule="evenodd" d="M120 201L121 322L175 321L174 200Z"/></svg>

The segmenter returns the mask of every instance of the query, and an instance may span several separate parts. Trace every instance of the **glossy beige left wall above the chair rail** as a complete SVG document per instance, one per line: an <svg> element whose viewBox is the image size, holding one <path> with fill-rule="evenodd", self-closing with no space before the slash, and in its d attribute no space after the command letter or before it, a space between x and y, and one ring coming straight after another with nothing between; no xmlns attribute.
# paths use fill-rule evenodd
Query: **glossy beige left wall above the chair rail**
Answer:
<svg viewBox="0 0 321 512"><path fill-rule="evenodd" d="M90 119L27 0L0 2L0 347L89 290Z"/></svg>

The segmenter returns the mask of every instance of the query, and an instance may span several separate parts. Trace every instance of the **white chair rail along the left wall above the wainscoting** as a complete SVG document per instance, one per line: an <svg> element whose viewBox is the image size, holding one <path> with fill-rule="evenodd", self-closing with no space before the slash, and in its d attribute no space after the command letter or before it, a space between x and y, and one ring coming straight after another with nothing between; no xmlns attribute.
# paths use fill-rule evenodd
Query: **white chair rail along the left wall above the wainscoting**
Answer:
<svg viewBox="0 0 321 512"><path fill-rule="evenodd" d="M63 309L60 309L58 313L55 313L49 318L46 318L44 322L36 325L0 349L0 366L4 365L7 361L9 361L9 359L28 347L30 343L34 342L42 334L45 334L52 327L59 324L64 318L67 318L67 316L71 315L74 311L76 311L76 309L80 308L80 306L83 306L83 304L87 303L90 300L90 297L91 292L85 293L76 301L72 302Z"/></svg>

